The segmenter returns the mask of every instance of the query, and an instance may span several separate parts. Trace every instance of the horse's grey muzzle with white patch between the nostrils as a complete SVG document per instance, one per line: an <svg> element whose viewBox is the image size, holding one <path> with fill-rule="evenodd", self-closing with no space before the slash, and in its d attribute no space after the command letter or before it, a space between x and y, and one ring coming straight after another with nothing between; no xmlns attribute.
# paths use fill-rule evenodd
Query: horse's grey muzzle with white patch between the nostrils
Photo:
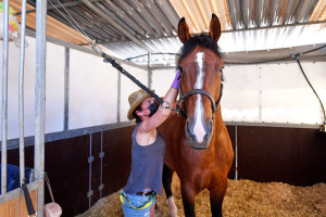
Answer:
<svg viewBox="0 0 326 217"><path fill-rule="evenodd" d="M187 136L186 143L189 144L190 148L204 150L210 146L213 135L212 119L204 122L201 130L196 129L193 122L187 120L185 130Z"/></svg>

